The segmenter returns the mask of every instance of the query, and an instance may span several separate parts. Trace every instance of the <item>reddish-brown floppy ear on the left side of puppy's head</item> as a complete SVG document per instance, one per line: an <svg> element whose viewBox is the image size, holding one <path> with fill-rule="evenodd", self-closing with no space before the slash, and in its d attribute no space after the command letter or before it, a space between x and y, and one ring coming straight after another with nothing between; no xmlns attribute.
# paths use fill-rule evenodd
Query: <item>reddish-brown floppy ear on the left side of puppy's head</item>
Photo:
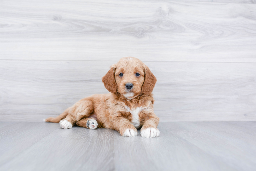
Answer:
<svg viewBox="0 0 256 171"><path fill-rule="evenodd" d="M105 88L111 92L116 93L117 92L117 84L115 83L115 75L114 75L114 67L111 67L107 74L102 77L102 82L105 86Z"/></svg>

